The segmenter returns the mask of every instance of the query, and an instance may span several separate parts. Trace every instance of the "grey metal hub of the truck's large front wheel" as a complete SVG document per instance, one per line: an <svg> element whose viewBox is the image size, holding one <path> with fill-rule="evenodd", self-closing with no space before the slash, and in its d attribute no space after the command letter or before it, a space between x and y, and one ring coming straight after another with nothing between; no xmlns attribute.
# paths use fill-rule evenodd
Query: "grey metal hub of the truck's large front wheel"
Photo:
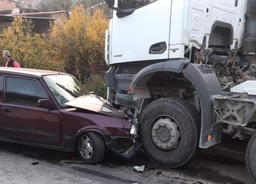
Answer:
<svg viewBox="0 0 256 184"><path fill-rule="evenodd" d="M179 145L180 131L173 118L167 117L157 120L152 129L152 138L156 146L171 150Z"/></svg>

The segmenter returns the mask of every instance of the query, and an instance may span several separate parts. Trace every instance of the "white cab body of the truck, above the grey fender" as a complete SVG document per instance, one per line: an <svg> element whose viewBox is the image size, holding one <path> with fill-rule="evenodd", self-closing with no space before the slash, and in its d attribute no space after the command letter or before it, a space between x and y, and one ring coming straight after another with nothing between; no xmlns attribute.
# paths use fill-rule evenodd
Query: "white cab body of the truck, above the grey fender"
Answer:
<svg viewBox="0 0 256 184"><path fill-rule="evenodd" d="M115 7L132 7L134 11L118 17L114 10L109 26L108 64L184 58L185 46L200 49L204 36L206 48L210 44L235 49L236 41L238 48L242 45L246 0L134 2L115 1Z"/></svg>

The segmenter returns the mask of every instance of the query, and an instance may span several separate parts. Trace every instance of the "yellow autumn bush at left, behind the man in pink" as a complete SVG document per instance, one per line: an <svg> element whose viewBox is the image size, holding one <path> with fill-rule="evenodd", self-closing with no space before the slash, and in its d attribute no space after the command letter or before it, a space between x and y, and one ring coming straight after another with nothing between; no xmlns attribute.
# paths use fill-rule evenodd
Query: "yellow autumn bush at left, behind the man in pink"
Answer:
<svg viewBox="0 0 256 184"><path fill-rule="evenodd" d="M0 50L9 50L24 68L62 70L61 63L50 59L50 45L42 35L33 32L33 26L28 19L15 18L0 34Z"/></svg>

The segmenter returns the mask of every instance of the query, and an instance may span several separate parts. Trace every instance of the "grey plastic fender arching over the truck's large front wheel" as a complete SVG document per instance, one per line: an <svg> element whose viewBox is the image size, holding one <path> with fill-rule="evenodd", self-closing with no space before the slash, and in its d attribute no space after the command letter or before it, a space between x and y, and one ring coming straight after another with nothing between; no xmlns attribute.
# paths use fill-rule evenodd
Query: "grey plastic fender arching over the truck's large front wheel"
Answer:
<svg viewBox="0 0 256 184"><path fill-rule="evenodd" d="M208 148L220 143L222 124L216 124L217 114L213 109L213 99L221 95L221 87L215 70L209 65L191 64L186 59L152 64L142 69L134 77L130 85L133 99L150 98L150 91L146 83L154 73L163 71L182 73L198 93L201 109L200 147Z"/></svg>

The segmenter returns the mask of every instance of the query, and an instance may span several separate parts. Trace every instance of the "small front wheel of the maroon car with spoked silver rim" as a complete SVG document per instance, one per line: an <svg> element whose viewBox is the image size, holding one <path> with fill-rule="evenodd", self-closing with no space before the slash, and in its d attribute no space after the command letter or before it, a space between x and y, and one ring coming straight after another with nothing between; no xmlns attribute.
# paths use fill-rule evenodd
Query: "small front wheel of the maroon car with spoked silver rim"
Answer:
<svg viewBox="0 0 256 184"><path fill-rule="evenodd" d="M86 164L99 163L105 154L103 138L91 131L81 134L77 140L77 152Z"/></svg>

